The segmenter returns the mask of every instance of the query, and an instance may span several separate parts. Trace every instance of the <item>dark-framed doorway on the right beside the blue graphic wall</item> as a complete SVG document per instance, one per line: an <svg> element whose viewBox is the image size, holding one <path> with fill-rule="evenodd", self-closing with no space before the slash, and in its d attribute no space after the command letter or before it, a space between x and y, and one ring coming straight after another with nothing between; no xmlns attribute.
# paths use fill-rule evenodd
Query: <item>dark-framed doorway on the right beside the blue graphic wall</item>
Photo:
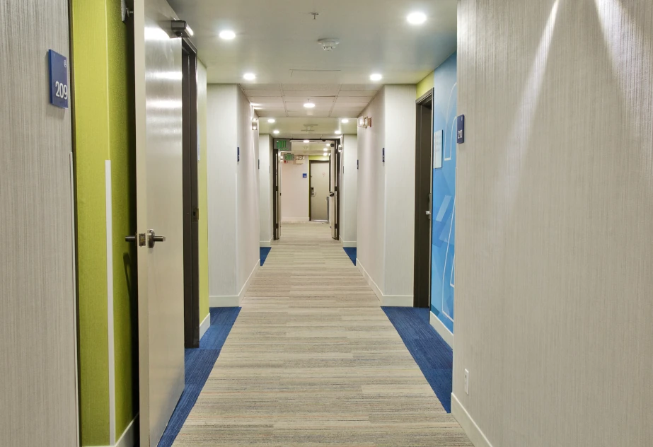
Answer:
<svg viewBox="0 0 653 447"><path fill-rule="evenodd" d="M433 91L417 100L415 138L415 277L413 306L431 306Z"/></svg>

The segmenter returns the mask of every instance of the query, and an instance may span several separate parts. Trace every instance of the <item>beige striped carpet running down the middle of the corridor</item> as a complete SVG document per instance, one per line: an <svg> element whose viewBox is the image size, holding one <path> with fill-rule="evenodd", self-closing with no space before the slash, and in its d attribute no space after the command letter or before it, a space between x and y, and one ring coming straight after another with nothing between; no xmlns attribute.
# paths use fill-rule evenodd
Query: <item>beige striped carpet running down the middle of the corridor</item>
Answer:
<svg viewBox="0 0 653 447"><path fill-rule="evenodd" d="M286 225L175 446L472 446L324 223Z"/></svg>

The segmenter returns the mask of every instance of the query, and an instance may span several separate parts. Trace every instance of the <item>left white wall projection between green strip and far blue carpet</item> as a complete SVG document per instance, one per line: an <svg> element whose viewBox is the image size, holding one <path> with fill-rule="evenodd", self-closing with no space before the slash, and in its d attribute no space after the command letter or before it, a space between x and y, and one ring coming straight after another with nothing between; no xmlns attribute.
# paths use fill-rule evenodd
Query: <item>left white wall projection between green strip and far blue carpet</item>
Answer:
<svg viewBox="0 0 653 447"><path fill-rule="evenodd" d="M209 301L238 306L259 264L259 135L238 86L209 84L207 109Z"/></svg>

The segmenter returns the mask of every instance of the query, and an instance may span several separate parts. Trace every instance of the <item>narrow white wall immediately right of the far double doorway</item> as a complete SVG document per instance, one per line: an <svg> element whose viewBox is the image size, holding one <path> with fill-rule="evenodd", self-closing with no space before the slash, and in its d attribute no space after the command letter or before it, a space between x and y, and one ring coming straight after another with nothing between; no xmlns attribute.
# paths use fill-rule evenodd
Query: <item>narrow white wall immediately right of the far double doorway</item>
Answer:
<svg viewBox="0 0 653 447"><path fill-rule="evenodd" d="M356 247L358 200L358 136L344 135L340 153L340 240Z"/></svg>

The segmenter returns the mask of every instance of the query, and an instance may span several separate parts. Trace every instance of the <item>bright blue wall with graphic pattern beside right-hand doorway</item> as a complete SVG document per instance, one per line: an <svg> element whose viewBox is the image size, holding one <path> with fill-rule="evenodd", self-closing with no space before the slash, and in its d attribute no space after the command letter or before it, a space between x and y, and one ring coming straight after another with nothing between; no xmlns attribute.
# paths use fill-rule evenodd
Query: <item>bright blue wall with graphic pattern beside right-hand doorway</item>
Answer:
<svg viewBox="0 0 653 447"><path fill-rule="evenodd" d="M433 170L431 311L453 332L456 267L456 54L434 73L433 131L441 138L441 168ZM441 134L438 134L441 132ZM434 144L434 146L439 146ZM435 154L434 154L435 156ZM440 166L439 163L434 166Z"/></svg>

